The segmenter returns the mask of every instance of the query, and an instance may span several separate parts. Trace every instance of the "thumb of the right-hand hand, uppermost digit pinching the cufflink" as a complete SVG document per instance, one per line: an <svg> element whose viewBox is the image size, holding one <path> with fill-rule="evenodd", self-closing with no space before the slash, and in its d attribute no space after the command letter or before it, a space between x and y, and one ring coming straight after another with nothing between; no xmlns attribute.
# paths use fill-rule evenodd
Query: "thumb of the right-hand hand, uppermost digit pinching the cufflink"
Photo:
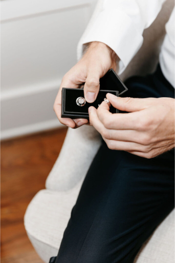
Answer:
<svg viewBox="0 0 175 263"><path fill-rule="evenodd" d="M137 99L137 98L121 98L116 97L111 93L106 94L106 98L111 102L111 104L122 111L133 112L148 108L152 105L152 98Z"/></svg>

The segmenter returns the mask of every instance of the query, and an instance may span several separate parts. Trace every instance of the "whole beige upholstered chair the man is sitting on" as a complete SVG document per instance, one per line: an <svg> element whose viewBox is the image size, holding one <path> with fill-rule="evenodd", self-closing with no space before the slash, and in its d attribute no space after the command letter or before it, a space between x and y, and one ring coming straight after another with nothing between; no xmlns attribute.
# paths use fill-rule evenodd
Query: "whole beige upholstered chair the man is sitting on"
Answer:
<svg viewBox="0 0 175 263"><path fill-rule="evenodd" d="M155 69L165 33L164 24L172 7L173 1L167 1L156 21L144 31L144 43L122 73L123 80ZM93 23L97 12L98 5L90 23ZM99 146L100 136L93 127L69 128L61 153L46 181L46 189L39 191L28 206L25 228L35 250L45 262L57 255L71 209ZM145 242L135 263L173 263L173 227L172 211Z"/></svg>

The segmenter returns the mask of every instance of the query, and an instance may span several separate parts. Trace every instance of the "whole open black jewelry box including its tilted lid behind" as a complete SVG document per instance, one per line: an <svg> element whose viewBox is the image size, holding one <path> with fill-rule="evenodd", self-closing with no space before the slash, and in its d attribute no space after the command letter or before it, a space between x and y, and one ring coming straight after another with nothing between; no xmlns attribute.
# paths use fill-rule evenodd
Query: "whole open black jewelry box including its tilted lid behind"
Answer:
<svg viewBox="0 0 175 263"><path fill-rule="evenodd" d="M61 117L89 119L88 108L90 106L98 108L99 104L106 98L108 92L120 96L125 91L127 91L127 87L111 68L100 79L100 90L97 99L93 103L85 101L82 88L62 88ZM110 107L110 111L118 113L118 110L113 106Z"/></svg>

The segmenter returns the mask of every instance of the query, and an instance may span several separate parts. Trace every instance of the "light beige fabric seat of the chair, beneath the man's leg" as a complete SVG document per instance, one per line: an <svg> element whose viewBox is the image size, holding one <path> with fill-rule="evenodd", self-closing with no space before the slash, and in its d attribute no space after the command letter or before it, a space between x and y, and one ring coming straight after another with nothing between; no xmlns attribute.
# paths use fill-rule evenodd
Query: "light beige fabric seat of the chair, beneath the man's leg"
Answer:
<svg viewBox="0 0 175 263"><path fill-rule="evenodd" d="M41 190L25 214L28 236L43 261L56 256L82 181L69 191ZM174 263L174 211L143 245L135 263Z"/></svg>

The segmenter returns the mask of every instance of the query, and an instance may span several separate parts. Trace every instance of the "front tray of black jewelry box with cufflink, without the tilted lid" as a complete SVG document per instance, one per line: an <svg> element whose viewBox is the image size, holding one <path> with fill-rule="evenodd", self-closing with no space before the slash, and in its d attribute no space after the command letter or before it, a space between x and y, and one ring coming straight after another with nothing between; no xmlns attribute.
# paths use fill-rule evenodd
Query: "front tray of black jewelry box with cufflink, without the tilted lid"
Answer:
<svg viewBox="0 0 175 263"><path fill-rule="evenodd" d="M94 106L98 108L99 104L104 101L107 93L112 93L115 96L118 96L118 91L115 90L99 90L97 99L93 103L88 103L84 99L84 90L79 88L62 88L62 103L61 103L61 117L62 118L71 118L71 119L88 119L89 113L88 108ZM85 104L81 106L78 103L78 99L82 99L82 102L85 101ZM112 113L117 113L118 110L113 106L110 107Z"/></svg>

